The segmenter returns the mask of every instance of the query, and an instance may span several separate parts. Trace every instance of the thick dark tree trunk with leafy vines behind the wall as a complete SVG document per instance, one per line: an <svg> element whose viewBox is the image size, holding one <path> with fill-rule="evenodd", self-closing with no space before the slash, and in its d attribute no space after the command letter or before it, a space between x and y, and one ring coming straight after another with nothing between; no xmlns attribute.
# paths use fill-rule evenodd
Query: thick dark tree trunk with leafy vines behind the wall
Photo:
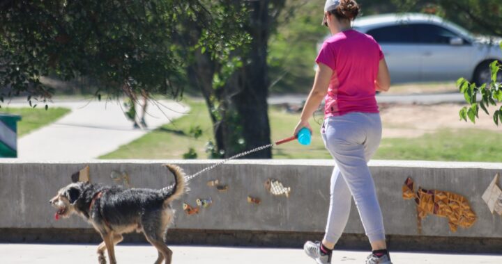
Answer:
<svg viewBox="0 0 502 264"><path fill-rule="evenodd" d="M194 54L188 79L201 89L211 113L216 142L209 142L207 149L213 157L233 156L271 142L266 102L268 39L284 3L245 1L248 17L238 30L249 36L248 45L231 50L219 60L206 54L204 47ZM199 28L191 33L192 41L203 32ZM271 150L266 149L246 158L271 156Z"/></svg>

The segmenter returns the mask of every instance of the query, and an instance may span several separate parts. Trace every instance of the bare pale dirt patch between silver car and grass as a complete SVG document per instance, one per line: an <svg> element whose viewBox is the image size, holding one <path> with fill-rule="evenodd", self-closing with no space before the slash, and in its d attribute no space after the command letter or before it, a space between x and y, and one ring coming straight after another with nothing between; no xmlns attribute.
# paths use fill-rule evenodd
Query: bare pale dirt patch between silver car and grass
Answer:
<svg viewBox="0 0 502 264"><path fill-rule="evenodd" d="M492 117L484 112L476 124L459 121L460 104L437 105L385 105L381 106L383 138L418 138L440 129L484 129L502 132ZM493 112L493 109L490 111Z"/></svg>

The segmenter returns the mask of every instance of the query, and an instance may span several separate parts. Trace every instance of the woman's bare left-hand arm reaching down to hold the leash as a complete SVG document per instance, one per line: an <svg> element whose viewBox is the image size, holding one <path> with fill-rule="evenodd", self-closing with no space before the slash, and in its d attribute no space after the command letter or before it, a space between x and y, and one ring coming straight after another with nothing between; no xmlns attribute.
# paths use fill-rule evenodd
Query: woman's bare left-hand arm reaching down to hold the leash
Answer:
<svg viewBox="0 0 502 264"><path fill-rule="evenodd" d="M298 122L298 125L296 125L294 135L298 134L298 131L300 131L300 129L302 129L303 127L307 127L307 129L310 130L310 133L312 133L312 128L310 127L308 120L310 119L310 117L312 117L312 115L314 115L314 112L317 110L317 108L319 108L319 105L326 96L326 93L328 93L328 87L332 75L333 69L331 69L327 65L324 65L323 63L319 63L319 67L317 67L317 72L314 79L314 86L312 87L312 90L307 97L305 106L303 106L300 122Z"/></svg>

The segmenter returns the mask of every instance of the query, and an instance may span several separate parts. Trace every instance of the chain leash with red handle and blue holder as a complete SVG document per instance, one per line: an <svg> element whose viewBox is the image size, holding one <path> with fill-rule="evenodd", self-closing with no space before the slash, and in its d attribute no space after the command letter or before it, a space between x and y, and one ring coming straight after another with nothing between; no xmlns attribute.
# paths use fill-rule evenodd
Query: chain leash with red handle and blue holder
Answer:
<svg viewBox="0 0 502 264"><path fill-rule="evenodd" d="M300 129L300 131L298 131L298 134L296 136L294 135L292 137L284 138L282 140L273 142L273 143L268 144L268 145L264 145L264 146L261 146L261 147L257 147L255 149L251 149L251 150L244 151L242 153L236 154L235 156L231 156L230 158L226 158L225 160L222 160L219 163L215 163L215 164L213 164L213 165L211 165L209 167L206 167L203 170L201 170L199 172L196 172L195 174L185 176L185 181L188 182L188 181L194 179L195 177L199 176L200 174L202 174L204 172L207 172L208 170L213 170L215 167L218 167L218 166L220 166L220 165L222 165L224 163L227 163L229 160L233 160L235 158L240 158L242 156L246 156L248 154L252 154L252 153L257 152L257 151L268 149L268 148L271 148L273 146L282 145L284 143L291 142L293 140L298 140L298 142L300 142L301 145L310 145L310 141L311 141L310 131L306 127L304 127L303 129ZM164 189L172 189L172 188L174 188L174 183L171 184L171 185L169 185L169 186L167 186Z"/></svg>

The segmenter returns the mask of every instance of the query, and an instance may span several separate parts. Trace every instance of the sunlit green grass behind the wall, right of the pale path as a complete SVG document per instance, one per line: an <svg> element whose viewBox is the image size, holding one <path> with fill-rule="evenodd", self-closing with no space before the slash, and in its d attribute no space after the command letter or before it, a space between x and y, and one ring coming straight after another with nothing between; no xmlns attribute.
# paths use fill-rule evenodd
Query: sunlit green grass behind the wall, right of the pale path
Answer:
<svg viewBox="0 0 502 264"><path fill-rule="evenodd" d="M144 135L142 138L120 147L118 150L100 158L182 158L188 149L194 148L198 158L207 158L204 146L213 140L213 131L209 114L203 103L189 103L192 110L189 115L176 119L160 129ZM269 110L272 140L287 138L293 133L300 114L284 113L278 108ZM317 119L320 122L321 117ZM314 136L310 146L289 142L273 148L274 158L331 158L324 149L319 134L320 124L311 120ZM190 128L198 125L203 134L197 140L190 133ZM385 126L385 124L384 124ZM448 161L487 161L502 160L502 136L493 131L479 129L442 130L426 134L420 138L383 139L374 158L393 160L448 160Z"/></svg>

